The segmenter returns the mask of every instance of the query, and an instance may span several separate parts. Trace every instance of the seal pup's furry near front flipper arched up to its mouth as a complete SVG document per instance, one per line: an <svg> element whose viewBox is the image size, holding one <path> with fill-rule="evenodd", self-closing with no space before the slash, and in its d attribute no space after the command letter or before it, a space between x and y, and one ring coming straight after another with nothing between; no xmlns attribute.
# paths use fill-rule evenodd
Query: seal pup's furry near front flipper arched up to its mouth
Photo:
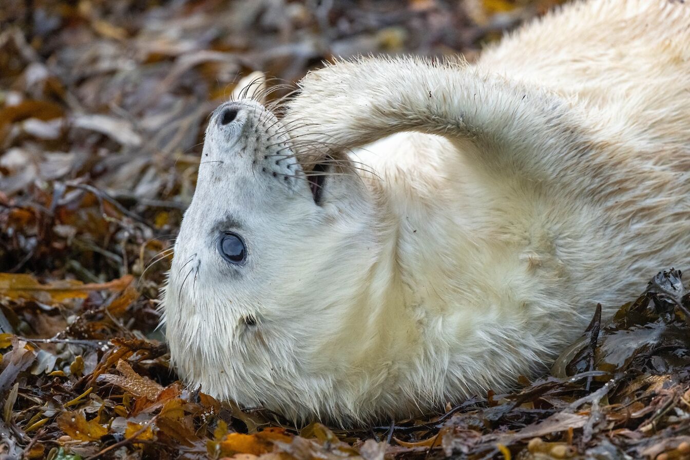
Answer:
<svg viewBox="0 0 690 460"><path fill-rule="evenodd" d="M606 163L594 141L598 128L580 107L462 61L341 61L310 72L299 86L284 123L304 148L347 150L397 132L437 134L485 172L559 190L579 177L593 181Z"/></svg>

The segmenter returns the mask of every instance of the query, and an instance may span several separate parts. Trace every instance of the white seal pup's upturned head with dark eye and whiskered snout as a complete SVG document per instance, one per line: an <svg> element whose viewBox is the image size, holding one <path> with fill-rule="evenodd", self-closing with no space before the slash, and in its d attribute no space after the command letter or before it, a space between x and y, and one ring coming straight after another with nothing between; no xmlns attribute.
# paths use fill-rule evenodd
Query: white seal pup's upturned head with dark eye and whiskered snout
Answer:
<svg viewBox="0 0 690 460"><path fill-rule="evenodd" d="M292 146L255 101L213 112L164 290L166 337L181 377L214 397L356 418L370 387L351 378L371 377L360 361L375 345L357 325L384 321L362 312L386 271L380 218L348 160Z"/></svg>

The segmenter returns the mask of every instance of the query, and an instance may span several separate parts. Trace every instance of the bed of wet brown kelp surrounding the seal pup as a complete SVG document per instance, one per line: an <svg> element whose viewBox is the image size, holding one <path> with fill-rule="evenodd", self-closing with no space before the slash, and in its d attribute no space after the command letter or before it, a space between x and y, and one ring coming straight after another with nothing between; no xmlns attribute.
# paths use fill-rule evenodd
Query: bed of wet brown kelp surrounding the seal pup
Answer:
<svg viewBox="0 0 690 460"><path fill-rule="evenodd" d="M676 271L611 321L593 311L551 372L514 392L357 430L184 388L156 330L206 117L239 76L290 84L369 52L472 59L553 3L0 2L0 456L690 458Z"/></svg>

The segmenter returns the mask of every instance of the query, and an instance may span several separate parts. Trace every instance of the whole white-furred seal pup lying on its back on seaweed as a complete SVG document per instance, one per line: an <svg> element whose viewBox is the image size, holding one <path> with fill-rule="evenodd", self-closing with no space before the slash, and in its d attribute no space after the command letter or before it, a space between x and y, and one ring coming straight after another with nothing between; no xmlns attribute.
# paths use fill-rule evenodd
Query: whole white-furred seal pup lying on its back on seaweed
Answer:
<svg viewBox="0 0 690 460"><path fill-rule="evenodd" d="M189 383L406 417L548 365L690 266L690 6L575 3L473 66L339 62L217 110L164 295ZM355 150L359 168L344 149ZM369 172L371 169L375 172Z"/></svg>

